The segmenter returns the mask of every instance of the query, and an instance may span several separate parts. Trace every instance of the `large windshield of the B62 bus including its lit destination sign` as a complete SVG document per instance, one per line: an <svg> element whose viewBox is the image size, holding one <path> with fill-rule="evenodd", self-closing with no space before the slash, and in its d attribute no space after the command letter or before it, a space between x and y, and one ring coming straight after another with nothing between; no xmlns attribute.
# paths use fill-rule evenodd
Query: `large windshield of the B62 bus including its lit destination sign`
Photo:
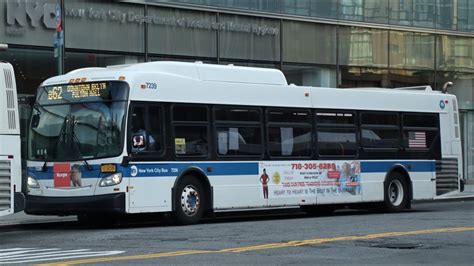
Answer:
<svg viewBox="0 0 474 266"><path fill-rule="evenodd" d="M74 161L123 150L128 85L121 81L40 87L28 134L30 160Z"/></svg>

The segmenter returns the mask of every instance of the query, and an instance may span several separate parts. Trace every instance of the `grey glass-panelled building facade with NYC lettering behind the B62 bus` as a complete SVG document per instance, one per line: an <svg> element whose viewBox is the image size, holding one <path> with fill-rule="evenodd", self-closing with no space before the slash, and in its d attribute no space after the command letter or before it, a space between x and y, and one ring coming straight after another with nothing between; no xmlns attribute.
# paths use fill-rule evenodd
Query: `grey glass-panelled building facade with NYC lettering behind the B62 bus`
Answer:
<svg viewBox="0 0 474 266"><path fill-rule="evenodd" d="M64 1L64 54L53 37L58 2L0 0L0 43L10 47L0 60L14 65L20 94L62 68L155 60L278 68L290 83L323 87L453 81L474 179L472 0Z"/></svg>

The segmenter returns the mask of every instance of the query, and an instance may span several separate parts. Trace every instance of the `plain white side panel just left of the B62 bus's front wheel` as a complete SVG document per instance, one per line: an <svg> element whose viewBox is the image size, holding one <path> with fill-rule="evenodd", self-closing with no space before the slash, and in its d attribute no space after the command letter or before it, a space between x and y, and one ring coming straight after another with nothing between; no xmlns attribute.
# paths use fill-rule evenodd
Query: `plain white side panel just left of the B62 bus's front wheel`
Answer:
<svg viewBox="0 0 474 266"><path fill-rule="evenodd" d="M171 188L176 177L130 177L128 206L130 213L169 212L172 208Z"/></svg>

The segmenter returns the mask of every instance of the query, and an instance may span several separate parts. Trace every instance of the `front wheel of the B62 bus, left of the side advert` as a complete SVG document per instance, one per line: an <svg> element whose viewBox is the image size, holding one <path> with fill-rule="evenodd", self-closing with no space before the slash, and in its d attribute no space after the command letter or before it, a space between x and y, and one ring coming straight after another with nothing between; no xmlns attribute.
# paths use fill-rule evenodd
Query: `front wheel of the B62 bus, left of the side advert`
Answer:
<svg viewBox="0 0 474 266"><path fill-rule="evenodd" d="M203 184L194 176L187 175L180 180L175 193L176 223L198 223L206 212L209 198Z"/></svg>

